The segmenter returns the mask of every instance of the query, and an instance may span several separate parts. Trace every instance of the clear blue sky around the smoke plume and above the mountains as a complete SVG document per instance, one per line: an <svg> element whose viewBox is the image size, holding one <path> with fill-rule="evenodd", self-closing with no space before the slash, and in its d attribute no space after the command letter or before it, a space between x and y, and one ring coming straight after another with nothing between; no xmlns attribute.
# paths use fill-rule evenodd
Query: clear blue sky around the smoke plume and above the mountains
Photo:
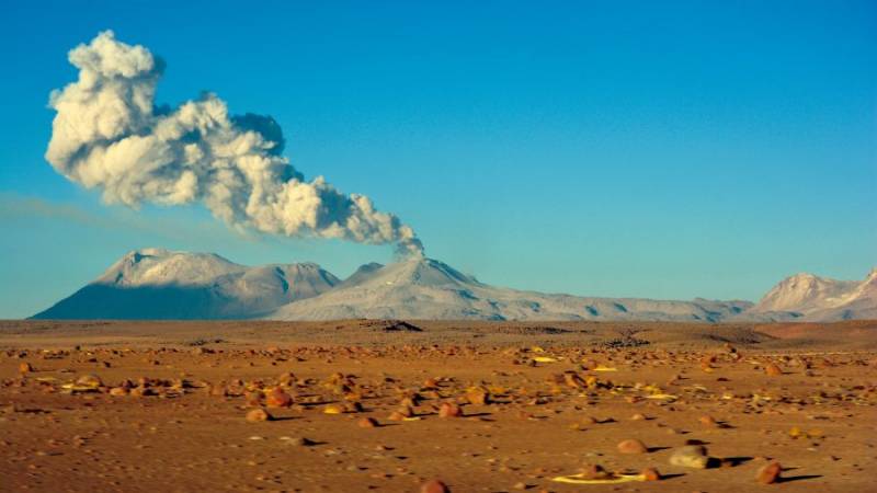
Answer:
<svg viewBox="0 0 877 493"><path fill-rule="evenodd" d="M67 51L112 28L272 115L307 176L371 196L482 282L756 299L877 265L877 3L5 2L0 318L144 246L345 276L389 246L241 236L198 207L134 211L45 161Z"/></svg>

